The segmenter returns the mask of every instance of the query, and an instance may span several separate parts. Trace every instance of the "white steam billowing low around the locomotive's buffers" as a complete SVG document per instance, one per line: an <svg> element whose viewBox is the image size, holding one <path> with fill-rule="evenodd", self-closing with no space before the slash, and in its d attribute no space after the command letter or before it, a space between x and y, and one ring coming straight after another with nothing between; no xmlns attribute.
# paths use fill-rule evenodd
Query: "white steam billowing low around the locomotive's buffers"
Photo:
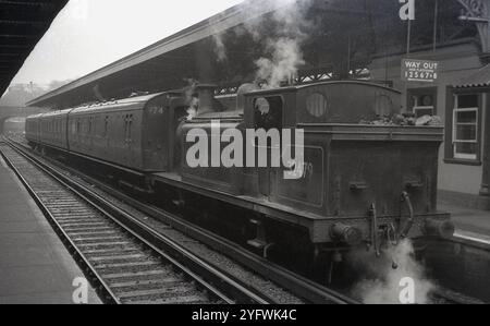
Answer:
<svg viewBox="0 0 490 326"><path fill-rule="evenodd" d="M430 303L430 294L436 286L426 277L422 265L415 259L412 241L403 240L383 253L381 258L367 256L366 252L355 252L348 261L366 275L353 290L356 298L366 304L401 304L404 285L401 281L409 278L414 281L414 299L416 304ZM396 265L396 269L393 269Z"/></svg>

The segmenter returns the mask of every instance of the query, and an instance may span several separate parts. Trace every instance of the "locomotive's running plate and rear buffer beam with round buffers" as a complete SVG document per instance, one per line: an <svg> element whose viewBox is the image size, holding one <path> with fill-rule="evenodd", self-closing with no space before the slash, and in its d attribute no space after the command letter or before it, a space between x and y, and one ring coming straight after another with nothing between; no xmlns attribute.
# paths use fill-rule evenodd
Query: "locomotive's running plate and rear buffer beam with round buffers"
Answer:
<svg viewBox="0 0 490 326"><path fill-rule="evenodd" d="M302 226L308 230L310 241L314 244L338 242L340 245L345 246L345 242L354 245L359 242L371 243L373 240L373 219L370 214L370 208L372 207L367 207L365 216L343 217L341 219L342 222L340 222L339 216L319 216L249 196L234 196L224 192L205 189L183 181L176 173L156 173L154 176L157 183L160 182L179 190L199 194L203 197L219 200L236 207L248 209L257 214L257 216L266 216L285 225ZM401 197L402 200L403 196ZM389 230L390 237L393 238L393 227L397 227L396 230L399 230L400 225L407 219L408 216L405 214L377 216L378 232L383 233ZM425 236L446 238L454 233L454 225L450 221L450 215L446 213L418 214L414 215L412 219L413 227L409 230L409 238ZM253 220L257 219L253 218ZM253 240L253 243L262 250L269 244L266 240L265 231L260 230L261 224L259 221L253 224L257 227L257 238L255 239L257 241ZM343 237L340 239L341 241L339 241L339 236ZM359 237L362 238L360 241L357 239ZM382 236L379 237L383 238Z"/></svg>

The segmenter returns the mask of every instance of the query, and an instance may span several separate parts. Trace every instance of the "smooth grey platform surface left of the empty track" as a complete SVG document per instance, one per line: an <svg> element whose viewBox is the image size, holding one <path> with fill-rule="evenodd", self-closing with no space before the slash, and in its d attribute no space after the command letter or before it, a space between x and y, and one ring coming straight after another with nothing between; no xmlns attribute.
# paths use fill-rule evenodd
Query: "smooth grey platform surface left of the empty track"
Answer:
<svg viewBox="0 0 490 326"><path fill-rule="evenodd" d="M73 281L83 276L0 157L0 304L73 304ZM87 299L101 303L90 287Z"/></svg>

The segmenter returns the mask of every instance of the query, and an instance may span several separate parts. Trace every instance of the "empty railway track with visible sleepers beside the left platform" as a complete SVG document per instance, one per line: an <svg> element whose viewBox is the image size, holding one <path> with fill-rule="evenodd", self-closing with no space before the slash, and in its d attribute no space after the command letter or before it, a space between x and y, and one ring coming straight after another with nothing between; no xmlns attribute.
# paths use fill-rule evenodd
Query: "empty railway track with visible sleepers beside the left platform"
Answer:
<svg viewBox="0 0 490 326"><path fill-rule="evenodd" d="M10 145L0 143L0 152L90 276L105 302L273 303L245 289L184 249L181 250L181 255L185 255L183 261L192 262L187 265L193 266L177 262L147 241L142 236L143 230L135 232L110 213L117 212L117 207L101 207Z"/></svg>

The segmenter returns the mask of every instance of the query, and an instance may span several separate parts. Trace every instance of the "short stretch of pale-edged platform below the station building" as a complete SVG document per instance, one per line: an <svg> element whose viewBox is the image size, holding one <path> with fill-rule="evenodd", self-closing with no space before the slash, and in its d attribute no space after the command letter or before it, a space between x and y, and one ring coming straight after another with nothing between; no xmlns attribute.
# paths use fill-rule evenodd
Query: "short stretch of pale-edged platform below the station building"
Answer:
<svg viewBox="0 0 490 326"><path fill-rule="evenodd" d="M440 202L439 209L451 213L456 237L490 243L490 210L478 210Z"/></svg>

